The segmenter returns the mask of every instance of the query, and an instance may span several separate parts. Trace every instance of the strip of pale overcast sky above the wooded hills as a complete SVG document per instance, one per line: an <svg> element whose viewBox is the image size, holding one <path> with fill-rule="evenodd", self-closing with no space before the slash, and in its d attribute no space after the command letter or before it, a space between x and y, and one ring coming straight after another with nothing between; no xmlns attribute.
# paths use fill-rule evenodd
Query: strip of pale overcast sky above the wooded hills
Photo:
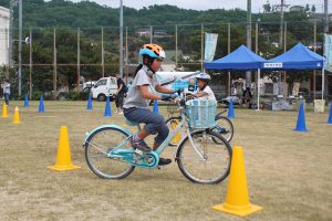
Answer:
<svg viewBox="0 0 332 221"><path fill-rule="evenodd" d="M72 0L74 2L79 2L80 0ZM98 4L105 4L112 8L118 8L120 0L90 0L94 1ZM251 0L252 2L252 11L253 12L262 12L262 4L267 2L267 0ZM270 0L270 4L279 4L280 0ZM323 11L324 0L286 0L287 4L291 6L305 6L307 3L315 4L317 12ZM123 0L123 4L126 7L142 9L143 7L148 7L153 4L172 4L177 6L178 8L184 9L195 9L195 10L208 10L208 9L235 9L240 8L247 9L247 0ZM329 6L329 12L332 10L332 3Z"/></svg>

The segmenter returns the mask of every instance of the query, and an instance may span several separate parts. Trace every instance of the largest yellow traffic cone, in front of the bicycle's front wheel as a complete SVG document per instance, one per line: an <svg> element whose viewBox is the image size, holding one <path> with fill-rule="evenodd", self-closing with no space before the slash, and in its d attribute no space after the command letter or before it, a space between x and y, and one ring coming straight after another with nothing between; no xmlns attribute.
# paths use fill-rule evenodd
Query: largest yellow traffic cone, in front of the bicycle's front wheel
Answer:
<svg viewBox="0 0 332 221"><path fill-rule="evenodd" d="M262 210L262 207L249 202L242 147L236 146L232 150L226 202L212 209L240 217Z"/></svg>

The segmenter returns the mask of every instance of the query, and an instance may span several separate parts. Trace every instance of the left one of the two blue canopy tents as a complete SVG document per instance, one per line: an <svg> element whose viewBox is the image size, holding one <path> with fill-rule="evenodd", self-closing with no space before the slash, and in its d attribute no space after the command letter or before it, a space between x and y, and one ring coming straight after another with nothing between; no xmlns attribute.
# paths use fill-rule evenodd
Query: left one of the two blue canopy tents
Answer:
<svg viewBox="0 0 332 221"><path fill-rule="evenodd" d="M229 70L229 71L250 71L250 70L258 70L258 80L260 78L260 67L262 63L267 60L262 59L261 56L257 55L252 51L250 51L247 46L241 45L230 54L215 60L212 62L205 62L204 69L206 70ZM259 85L259 84L258 84ZM257 96L257 104L259 104L259 86L258 96ZM257 105L259 109L259 105Z"/></svg>

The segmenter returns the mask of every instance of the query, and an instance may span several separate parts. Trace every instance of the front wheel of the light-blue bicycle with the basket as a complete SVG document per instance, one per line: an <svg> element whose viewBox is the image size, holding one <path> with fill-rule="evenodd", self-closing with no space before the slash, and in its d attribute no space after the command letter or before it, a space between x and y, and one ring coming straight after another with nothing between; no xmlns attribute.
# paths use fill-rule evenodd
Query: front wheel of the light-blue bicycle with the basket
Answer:
<svg viewBox="0 0 332 221"><path fill-rule="evenodd" d="M198 183L211 185L222 181L230 170L231 147L229 143L214 131L196 131L191 134L191 137L196 148L186 137L176 154L183 175Z"/></svg>

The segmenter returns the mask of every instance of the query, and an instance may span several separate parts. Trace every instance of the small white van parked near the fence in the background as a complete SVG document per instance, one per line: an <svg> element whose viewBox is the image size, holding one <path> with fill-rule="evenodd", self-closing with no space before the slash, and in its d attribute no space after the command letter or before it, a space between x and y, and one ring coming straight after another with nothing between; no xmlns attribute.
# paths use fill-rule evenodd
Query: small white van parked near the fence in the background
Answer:
<svg viewBox="0 0 332 221"><path fill-rule="evenodd" d="M91 88L92 98L100 102L106 101L106 96L110 96L112 101L117 92L116 77L108 76L100 78L95 85Z"/></svg>

